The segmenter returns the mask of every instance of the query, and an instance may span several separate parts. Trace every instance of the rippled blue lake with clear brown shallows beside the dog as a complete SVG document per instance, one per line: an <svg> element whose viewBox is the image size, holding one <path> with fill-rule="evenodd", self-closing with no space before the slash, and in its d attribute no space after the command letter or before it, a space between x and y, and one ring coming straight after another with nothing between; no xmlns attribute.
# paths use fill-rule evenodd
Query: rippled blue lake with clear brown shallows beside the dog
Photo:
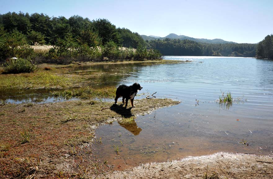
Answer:
<svg viewBox="0 0 273 179"><path fill-rule="evenodd" d="M139 163L217 151L273 154L272 60L165 59L192 62L135 66L117 86L138 82L143 87L141 93L157 92L155 96L181 104L138 116L130 126L117 122L101 126L96 130L101 142L93 145L94 156L123 170ZM231 92L235 99L229 108L215 102L221 91Z"/></svg>

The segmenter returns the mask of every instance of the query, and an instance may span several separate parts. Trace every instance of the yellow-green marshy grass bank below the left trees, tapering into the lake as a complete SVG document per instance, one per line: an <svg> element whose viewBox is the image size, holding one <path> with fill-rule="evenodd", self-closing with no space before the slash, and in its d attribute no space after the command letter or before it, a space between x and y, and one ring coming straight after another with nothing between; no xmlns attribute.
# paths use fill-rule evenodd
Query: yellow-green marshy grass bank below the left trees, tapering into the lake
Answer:
<svg viewBox="0 0 273 179"><path fill-rule="evenodd" d="M125 61L125 62L98 62L87 63L85 65L101 65L101 64L127 64L127 63L145 63L145 64L168 64L168 63L180 63L174 60L152 60L152 61ZM82 64L83 65L83 64ZM33 73L27 74L0 74L0 89L38 89L38 88L70 88L83 86L90 81L96 81L100 83L101 78L98 73L94 71L93 74L76 74L70 73L72 66L79 65L48 65L43 64L38 66L38 70ZM67 67L67 68L66 68ZM1 69L0 69L1 71ZM123 74L124 71L121 71ZM117 74L116 74L117 75ZM97 79L99 78L99 79Z"/></svg>

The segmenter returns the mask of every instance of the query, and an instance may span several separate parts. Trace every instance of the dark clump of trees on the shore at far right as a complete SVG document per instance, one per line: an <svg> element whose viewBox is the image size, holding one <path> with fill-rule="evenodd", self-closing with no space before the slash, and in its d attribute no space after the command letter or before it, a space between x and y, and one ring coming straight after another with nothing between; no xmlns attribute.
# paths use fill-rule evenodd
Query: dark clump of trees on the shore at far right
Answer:
<svg viewBox="0 0 273 179"><path fill-rule="evenodd" d="M258 43L257 58L273 59L273 34L267 35Z"/></svg>

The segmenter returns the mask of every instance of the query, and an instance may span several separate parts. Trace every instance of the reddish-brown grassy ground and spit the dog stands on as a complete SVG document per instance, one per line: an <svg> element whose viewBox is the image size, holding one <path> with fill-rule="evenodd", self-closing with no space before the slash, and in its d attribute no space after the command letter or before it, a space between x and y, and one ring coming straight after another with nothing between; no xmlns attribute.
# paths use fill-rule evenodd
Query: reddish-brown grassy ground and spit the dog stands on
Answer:
<svg viewBox="0 0 273 179"><path fill-rule="evenodd" d="M109 120L145 114L160 107L176 105L170 99L141 99L135 108L93 100L66 101L50 104L7 104L0 107L0 178L57 178L56 171L72 176L75 155L83 145L92 143L95 128ZM20 113L25 109L24 113ZM16 120L20 119L20 120ZM30 138L31 136L31 138ZM29 142L22 142L24 141ZM73 152L71 152L73 149ZM24 162L33 156L38 164ZM38 161L38 160L37 160ZM70 167L66 167L70 166ZM31 168L32 167L32 168Z"/></svg>

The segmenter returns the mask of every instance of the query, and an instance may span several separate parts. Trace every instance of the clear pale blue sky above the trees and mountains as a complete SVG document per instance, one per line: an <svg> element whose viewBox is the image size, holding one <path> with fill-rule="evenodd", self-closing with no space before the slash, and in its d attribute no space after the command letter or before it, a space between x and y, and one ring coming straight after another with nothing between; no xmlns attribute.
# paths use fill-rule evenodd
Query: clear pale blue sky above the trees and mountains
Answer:
<svg viewBox="0 0 273 179"><path fill-rule="evenodd" d="M273 0L0 0L0 14L105 18L141 35L258 43L273 34Z"/></svg>

